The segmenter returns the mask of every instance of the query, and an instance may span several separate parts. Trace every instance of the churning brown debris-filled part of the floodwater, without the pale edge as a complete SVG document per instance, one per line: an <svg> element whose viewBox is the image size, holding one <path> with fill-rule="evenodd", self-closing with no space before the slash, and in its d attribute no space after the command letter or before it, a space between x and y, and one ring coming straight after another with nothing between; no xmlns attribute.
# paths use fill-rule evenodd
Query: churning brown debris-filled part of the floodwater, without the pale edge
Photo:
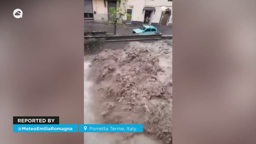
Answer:
<svg viewBox="0 0 256 144"><path fill-rule="evenodd" d="M94 57L89 78L95 82L91 91L104 123L143 124L146 134L171 143L170 43L131 42L124 50L105 50Z"/></svg>

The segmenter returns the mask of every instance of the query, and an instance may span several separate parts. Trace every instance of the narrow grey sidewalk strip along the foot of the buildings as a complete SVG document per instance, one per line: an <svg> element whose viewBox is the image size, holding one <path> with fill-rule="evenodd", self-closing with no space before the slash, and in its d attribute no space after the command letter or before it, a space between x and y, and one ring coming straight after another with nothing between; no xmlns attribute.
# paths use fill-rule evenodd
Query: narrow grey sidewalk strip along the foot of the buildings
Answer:
<svg viewBox="0 0 256 144"><path fill-rule="evenodd" d="M84 25L97 25L97 26L114 26L114 24L106 23L106 22L84 22ZM141 26L134 25L134 24L116 24L117 27L126 27L126 28L139 28ZM166 26L156 26L158 29L172 29L172 25Z"/></svg>

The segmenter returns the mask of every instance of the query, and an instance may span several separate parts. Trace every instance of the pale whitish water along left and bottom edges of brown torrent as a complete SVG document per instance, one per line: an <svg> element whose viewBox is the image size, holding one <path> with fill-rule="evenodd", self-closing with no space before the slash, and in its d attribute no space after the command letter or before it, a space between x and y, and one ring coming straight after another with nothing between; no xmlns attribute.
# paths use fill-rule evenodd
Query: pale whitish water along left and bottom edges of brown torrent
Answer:
<svg viewBox="0 0 256 144"><path fill-rule="evenodd" d="M93 82L88 81L90 62L84 62L84 124L95 124L92 105L93 98L89 93ZM124 140L120 133L84 133L84 144L162 144L162 141L153 140L143 134L135 135L129 140Z"/></svg>

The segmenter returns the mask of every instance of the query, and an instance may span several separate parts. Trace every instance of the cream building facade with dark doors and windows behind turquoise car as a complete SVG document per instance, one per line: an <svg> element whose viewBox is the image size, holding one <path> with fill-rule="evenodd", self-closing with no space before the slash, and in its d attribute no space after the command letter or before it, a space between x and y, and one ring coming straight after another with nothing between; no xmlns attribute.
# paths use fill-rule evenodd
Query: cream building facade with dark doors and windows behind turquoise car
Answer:
<svg viewBox="0 0 256 144"><path fill-rule="evenodd" d="M165 7L162 11L161 7ZM116 9L124 15L118 23L135 25L170 25L172 24L172 0L84 0L85 21L108 22L110 10Z"/></svg>

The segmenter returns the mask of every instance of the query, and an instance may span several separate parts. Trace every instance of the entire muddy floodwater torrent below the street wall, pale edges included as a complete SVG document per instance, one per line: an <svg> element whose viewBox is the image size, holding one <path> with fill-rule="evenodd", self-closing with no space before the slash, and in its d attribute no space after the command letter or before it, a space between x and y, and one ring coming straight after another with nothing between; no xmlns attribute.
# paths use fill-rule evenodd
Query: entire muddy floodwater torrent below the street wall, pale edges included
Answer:
<svg viewBox="0 0 256 144"><path fill-rule="evenodd" d="M172 42L123 45L85 56L84 123L143 124L143 133L84 133L84 143L171 144Z"/></svg>

